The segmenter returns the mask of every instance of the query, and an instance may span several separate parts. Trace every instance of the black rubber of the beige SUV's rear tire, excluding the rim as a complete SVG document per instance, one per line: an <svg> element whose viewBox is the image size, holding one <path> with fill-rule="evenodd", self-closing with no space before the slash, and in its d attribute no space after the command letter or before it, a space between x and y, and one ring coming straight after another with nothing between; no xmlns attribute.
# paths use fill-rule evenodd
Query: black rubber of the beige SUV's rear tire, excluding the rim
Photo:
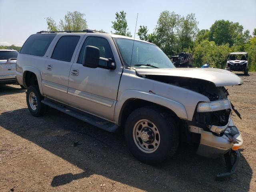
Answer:
<svg viewBox="0 0 256 192"><path fill-rule="evenodd" d="M30 106L30 94L33 94L33 93L36 96L36 100L37 100L37 107L35 109L33 109L32 106ZM30 113L35 117L42 116L46 110L46 105L41 102L43 98L44 97L41 95L38 86L32 85L28 87L26 92L27 106Z"/></svg>

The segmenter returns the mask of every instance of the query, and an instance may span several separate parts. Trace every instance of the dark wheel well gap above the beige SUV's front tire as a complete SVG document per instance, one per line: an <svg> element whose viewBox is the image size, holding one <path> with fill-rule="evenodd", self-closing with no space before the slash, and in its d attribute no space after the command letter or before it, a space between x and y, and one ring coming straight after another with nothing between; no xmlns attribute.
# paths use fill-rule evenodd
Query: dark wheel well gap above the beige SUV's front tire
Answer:
<svg viewBox="0 0 256 192"><path fill-rule="evenodd" d="M146 100L142 100L142 99L132 98L132 99L127 100L124 103L124 105L122 106L118 124L123 128L129 114L132 111L134 111L140 107L144 107L144 106L157 107L160 110L163 110L163 112L171 114L173 116L174 120L176 120L176 121L180 120L180 118L178 118L178 116L172 110L170 110L169 108L166 108L165 106L162 106L162 105L159 105L159 104L156 104L153 102L149 102Z"/></svg>

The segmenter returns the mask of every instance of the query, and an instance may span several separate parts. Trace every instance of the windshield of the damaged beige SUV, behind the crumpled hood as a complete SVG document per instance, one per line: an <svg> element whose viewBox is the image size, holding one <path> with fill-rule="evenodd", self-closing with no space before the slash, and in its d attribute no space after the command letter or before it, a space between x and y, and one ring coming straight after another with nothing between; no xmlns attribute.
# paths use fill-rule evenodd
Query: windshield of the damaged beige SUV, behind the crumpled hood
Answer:
<svg viewBox="0 0 256 192"><path fill-rule="evenodd" d="M114 38L114 40L126 67L175 68L170 59L158 46L124 38ZM133 43L134 48L132 53Z"/></svg>

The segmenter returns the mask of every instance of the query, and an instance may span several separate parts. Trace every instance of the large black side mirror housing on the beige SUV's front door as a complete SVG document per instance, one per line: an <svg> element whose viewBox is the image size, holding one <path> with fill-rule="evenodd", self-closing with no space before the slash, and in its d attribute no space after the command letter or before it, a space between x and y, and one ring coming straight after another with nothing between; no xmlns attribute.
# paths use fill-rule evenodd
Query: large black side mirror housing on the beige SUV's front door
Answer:
<svg viewBox="0 0 256 192"><path fill-rule="evenodd" d="M94 46L86 46L82 65L90 68L97 68L100 59L100 50Z"/></svg>

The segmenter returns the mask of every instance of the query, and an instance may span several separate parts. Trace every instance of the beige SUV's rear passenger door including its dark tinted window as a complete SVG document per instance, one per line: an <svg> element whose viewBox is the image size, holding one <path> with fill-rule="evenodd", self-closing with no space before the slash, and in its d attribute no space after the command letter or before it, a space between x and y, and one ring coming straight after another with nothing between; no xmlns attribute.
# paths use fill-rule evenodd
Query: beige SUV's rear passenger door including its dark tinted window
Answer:
<svg viewBox="0 0 256 192"><path fill-rule="evenodd" d="M44 94L61 102L68 102L68 78L74 60L74 53L82 39L81 35L59 34L56 45L44 64L42 72L42 87Z"/></svg>

